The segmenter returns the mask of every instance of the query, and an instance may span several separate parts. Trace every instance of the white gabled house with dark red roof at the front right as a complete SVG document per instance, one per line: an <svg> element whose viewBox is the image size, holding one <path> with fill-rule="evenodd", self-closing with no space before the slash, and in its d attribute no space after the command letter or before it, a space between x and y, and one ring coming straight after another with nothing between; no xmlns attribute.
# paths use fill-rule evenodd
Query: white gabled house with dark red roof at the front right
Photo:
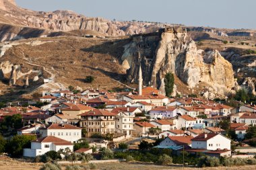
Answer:
<svg viewBox="0 0 256 170"><path fill-rule="evenodd" d="M206 149L211 151L230 150L231 140L222 134L210 133L199 134L192 139L192 148Z"/></svg>

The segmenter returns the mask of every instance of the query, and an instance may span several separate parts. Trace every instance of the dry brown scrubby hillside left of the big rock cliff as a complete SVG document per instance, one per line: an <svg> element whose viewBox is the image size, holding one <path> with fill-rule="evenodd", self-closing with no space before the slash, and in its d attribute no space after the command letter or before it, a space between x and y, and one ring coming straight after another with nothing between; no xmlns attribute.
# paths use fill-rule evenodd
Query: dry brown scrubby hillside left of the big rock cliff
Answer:
<svg viewBox="0 0 256 170"><path fill-rule="evenodd" d="M8 82L11 65L20 66L18 86L11 87L15 91L24 91L24 79L28 76L30 87L26 92L38 90L42 81L33 81L35 76L50 78L55 83L65 87L73 85L83 89L99 87L100 89L113 89L125 87L119 81L125 80L125 71L121 68L118 58L123 54L123 45L129 39L99 39L64 36L55 38L30 38L20 40L17 46L9 48L0 58L0 69L5 69L3 82ZM10 63L9 63L9 62ZM92 83L84 83L86 76L93 76ZM54 84L52 83L52 84ZM2 84L3 85L3 84ZM7 85L5 89L9 88ZM43 85L44 89L51 89ZM5 91L9 93L9 91Z"/></svg>

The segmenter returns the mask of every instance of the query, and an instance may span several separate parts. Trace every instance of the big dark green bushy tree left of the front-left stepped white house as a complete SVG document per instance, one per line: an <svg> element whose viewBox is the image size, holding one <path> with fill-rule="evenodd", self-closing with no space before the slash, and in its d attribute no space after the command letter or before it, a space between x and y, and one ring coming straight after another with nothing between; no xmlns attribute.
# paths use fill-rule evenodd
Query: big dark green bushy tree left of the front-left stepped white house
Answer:
<svg viewBox="0 0 256 170"><path fill-rule="evenodd" d="M7 153L13 157L19 157L23 154L24 148L30 148L30 142L36 140L36 136L16 135L7 141Z"/></svg>

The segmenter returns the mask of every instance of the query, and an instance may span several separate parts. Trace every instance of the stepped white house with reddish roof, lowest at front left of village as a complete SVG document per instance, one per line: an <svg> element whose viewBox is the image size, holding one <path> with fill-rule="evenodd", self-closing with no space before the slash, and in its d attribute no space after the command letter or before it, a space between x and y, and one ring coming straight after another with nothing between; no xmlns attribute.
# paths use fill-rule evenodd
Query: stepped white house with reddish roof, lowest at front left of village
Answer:
<svg viewBox="0 0 256 170"><path fill-rule="evenodd" d="M67 140L57 138L55 136L45 136L31 142L31 148L24 148L24 157L36 157L44 155L49 151L59 151L60 149L69 148L73 151L73 144Z"/></svg>

